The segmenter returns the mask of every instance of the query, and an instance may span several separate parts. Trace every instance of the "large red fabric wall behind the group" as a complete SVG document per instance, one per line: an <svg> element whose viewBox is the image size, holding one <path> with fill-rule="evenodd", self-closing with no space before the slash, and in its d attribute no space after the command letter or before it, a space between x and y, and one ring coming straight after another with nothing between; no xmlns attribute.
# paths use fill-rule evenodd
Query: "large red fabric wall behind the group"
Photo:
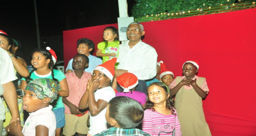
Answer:
<svg viewBox="0 0 256 136"><path fill-rule="evenodd" d="M143 41L175 76L182 75L185 61L199 62L198 76L206 77L210 89L203 108L213 136L256 135L255 15L256 9L248 9L142 23ZM97 46L106 26L64 31L65 66L77 53L77 39L90 38Z"/></svg>

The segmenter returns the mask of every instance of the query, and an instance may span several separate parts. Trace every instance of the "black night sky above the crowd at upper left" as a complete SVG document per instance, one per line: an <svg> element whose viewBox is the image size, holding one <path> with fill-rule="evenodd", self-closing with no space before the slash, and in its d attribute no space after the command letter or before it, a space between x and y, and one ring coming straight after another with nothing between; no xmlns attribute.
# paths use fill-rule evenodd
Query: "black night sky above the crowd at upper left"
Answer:
<svg viewBox="0 0 256 136"><path fill-rule="evenodd" d="M64 30L117 23L118 0L37 0L40 37L62 35ZM127 0L131 16L134 0ZM0 30L21 42L29 57L37 48L33 0L1 1ZM61 51L63 52L63 51ZM63 59L63 58L60 58Z"/></svg>

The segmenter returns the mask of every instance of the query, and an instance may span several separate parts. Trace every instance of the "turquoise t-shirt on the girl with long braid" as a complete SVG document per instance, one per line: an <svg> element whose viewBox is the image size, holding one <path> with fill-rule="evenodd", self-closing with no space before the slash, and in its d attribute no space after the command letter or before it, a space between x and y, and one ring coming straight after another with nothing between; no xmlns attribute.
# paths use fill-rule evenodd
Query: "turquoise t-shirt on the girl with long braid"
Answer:
<svg viewBox="0 0 256 136"><path fill-rule="evenodd" d="M57 80L62 81L64 78L66 78L66 76L64 75L63 72L59 71L59 70L53 70L54 73L54 78L56 78ZM32 80L38 79L38 78L49 78L52 79L52 72L46 74L46 75L38 75L36 72L31 73L30 78ZM22 78L21 80L25 80L25 78ZM26 80L25 80L26 81ZM63 103L62 103L62 97L58 96L56 105L53 107L53 109L57 109L57 108L61 108L64 107Z"/></svg>

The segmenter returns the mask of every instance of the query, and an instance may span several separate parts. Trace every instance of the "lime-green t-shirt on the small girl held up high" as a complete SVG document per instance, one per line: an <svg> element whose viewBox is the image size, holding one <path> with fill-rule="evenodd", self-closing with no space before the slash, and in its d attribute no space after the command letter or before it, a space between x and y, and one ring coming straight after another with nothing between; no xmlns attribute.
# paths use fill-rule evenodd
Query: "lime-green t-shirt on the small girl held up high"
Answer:
<svg viewBox="0 0 256 136"><path fill-rule="evenodd" d="M113 42L107 42L107 48L105 49L105 42L101 42L98 44L98 49L101 49L101 53L110 54L115 53L116 56L103 56L102 63L111 60L112 58L116 58L119 55L119 41L115 40Z"/></svg>

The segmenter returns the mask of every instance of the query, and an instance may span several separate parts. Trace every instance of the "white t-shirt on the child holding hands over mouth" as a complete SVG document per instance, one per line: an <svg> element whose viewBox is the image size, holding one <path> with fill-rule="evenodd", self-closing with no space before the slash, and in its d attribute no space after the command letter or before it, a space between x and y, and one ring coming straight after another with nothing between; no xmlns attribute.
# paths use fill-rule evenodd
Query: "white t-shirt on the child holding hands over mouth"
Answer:
<svg viewBox="0 0 256 136"><path fill-rule="evenodd" d="M104 87L102 89L98 89L95 93L96 102L98 99L102 99L106 102L109 102L112 98L115 97L115 91L112 87ZM98 134L107 129L107 121L105 118L106 107L96 116L91 116L90 114L90 128L89 132L91 135Z"/></svg>

